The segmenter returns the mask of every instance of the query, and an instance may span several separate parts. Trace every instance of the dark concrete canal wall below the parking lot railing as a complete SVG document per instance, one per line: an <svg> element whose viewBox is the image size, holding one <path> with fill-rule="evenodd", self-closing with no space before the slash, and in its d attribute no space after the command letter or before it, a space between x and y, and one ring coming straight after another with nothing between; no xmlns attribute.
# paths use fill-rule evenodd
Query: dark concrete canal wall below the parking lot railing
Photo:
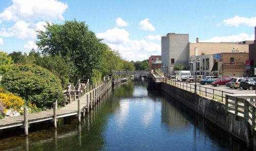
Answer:
<svg viewBox="0 0 256 151"><path fill-rule="evenodd" d="M248 128L244 122L234 116L226 116L225 104L210 98L205 98L194 92L183 90L173 85L162 83L162 92L172 96L182 104L201 114L227 132L248 143Z"/></svg>

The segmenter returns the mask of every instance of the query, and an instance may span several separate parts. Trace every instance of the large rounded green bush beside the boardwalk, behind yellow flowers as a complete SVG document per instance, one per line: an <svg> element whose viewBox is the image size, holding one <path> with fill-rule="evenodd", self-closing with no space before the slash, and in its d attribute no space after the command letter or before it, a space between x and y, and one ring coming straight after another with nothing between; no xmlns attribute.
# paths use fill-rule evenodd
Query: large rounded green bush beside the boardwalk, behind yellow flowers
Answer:
<svg viewBox="0 0 256 151"><path fill-rule="evenodd" d="M60 80L50 71L35 65L15 64L2 78L2 85L37 107L62 102Z"/></svg>

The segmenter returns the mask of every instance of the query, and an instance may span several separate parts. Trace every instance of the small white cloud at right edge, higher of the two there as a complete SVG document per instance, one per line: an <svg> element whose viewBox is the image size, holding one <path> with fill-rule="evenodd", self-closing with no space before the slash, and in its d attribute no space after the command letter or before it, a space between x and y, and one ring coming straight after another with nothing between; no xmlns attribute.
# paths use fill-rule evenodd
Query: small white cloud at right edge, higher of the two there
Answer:
<svg viewBox="0 0 256 151"><path fill-rule="evenodd" d="M227 26L239 27L241 24L245 24L249 27L254 27L256 25L256 17L240 17L238 15L233 18L224 19L223 23Z"/></svg>

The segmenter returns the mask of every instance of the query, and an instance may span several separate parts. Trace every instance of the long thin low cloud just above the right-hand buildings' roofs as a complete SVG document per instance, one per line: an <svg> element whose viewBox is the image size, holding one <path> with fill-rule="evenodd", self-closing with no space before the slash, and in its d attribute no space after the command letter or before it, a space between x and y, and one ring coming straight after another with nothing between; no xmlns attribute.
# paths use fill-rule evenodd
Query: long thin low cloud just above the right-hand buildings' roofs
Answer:
<svg viewBox="0 0 256 151"><path fill-rule="evenodd" d="M207 40L200 40L200 42L238 42L238 41L253 40L253 39L254 39L254 35L241 33L239 35L213 37Z"/></svg>

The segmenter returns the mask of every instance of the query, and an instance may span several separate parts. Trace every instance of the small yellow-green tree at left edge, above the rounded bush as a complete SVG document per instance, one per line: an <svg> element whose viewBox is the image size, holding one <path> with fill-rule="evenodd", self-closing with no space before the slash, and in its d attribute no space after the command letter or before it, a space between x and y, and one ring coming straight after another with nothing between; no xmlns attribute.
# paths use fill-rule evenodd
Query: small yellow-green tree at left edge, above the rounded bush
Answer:
<svg viewBox="0 0 256 151"><path fill-rule="evenodd" d="M0 74L5 74L12 64L12 58L6 52L0 51Z"/></svg>

